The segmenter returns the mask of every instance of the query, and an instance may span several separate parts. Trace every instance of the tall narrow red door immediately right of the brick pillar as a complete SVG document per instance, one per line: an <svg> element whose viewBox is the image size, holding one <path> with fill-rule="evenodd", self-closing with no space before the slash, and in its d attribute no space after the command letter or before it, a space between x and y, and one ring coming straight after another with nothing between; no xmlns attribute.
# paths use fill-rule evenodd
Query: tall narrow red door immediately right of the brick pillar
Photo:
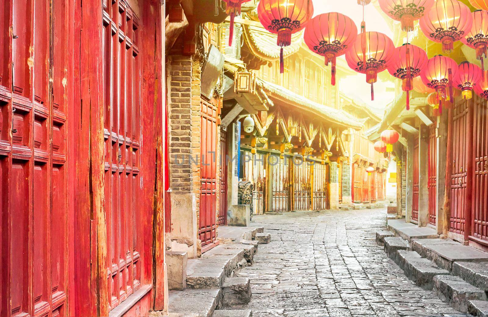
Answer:
<svg viewBox="0 0 488 317"><path fill-rule="evenodd" d="M199 238L202 246L216 239L217 217L217 107L201 99L200 143L200 222Z"/></svg>

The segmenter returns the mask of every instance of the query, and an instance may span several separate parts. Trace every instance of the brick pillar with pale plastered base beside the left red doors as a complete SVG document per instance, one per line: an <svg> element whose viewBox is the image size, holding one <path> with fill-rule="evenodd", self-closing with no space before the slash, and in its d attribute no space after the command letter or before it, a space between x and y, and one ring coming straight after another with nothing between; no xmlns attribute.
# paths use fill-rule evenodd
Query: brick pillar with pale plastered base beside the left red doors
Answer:
<svg viewBox="0 0 488 317"><path fill-rule="evenodd" d="M171 249L188 252L189 258L197 256L197 199L200 188L195 183L196 158L192 126L194 104L192 75L194 62L188 56L170 56L168 74L168 128L169 128L169 177L171 188ZM200 94L198 95L198 99ZM198 160L197 160L198 161ZM198 162L199 164L199 162ZM199 179L198 179L199 180Z"/></svg>

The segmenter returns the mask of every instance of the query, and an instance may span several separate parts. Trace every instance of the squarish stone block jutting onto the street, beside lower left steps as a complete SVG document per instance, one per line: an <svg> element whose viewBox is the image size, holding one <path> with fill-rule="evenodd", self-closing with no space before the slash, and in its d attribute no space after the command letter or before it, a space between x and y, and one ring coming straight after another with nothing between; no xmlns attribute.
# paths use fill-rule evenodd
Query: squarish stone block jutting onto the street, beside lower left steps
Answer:
<svg viewBox="0 0 488 317"><path fill-rule="evenodd" d="M228 277L222 284L222 305L233 307L251 301L251 279L249 277Z"/></svg>

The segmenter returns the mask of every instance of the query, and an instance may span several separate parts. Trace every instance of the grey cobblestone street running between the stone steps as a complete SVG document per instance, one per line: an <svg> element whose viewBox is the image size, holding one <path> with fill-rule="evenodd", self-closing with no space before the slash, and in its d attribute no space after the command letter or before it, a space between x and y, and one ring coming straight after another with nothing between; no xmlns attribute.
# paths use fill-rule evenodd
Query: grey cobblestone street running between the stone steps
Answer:
<svg viewBox="0 0 488 317"><path fill-rule="evenodd" d="M271 233L251 277L254 317L466 316L413 284L375 242L386 209L254 218Z"/></svg>

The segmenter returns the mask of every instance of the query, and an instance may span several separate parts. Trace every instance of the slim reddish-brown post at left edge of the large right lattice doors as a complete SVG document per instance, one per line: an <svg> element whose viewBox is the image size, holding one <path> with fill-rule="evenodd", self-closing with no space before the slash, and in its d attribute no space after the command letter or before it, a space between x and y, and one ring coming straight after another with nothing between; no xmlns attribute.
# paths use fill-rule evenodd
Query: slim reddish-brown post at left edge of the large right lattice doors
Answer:
<svg viewBox="0 0 488 317"><path fill-rule="evenodd" d="M451 209L451 177L452 177L452 108L447 110L447 145L446 145L446 173L444 178L444 213L437 222L442 223L442 232L439 234L446 235L449 232L450 209ZM440 154L440 153L439 153ZM439 161L442 157L439 155ZM437 185L439 187L439 185ZM439 231L439 230L438 230Z"/></svg>

